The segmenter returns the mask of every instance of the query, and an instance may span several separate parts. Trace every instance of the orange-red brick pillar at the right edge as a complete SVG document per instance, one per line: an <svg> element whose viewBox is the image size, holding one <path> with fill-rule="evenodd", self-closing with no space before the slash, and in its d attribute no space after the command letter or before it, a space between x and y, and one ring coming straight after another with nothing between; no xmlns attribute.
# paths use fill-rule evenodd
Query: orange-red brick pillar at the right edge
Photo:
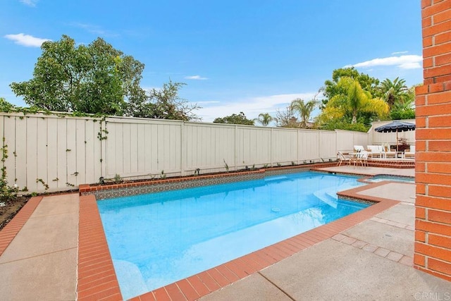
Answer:
<svg viewBox="0 0 451 301"><path fill-rule="evenodd" d="M414 267L451 281L451 0L422 0Z"/></svg>

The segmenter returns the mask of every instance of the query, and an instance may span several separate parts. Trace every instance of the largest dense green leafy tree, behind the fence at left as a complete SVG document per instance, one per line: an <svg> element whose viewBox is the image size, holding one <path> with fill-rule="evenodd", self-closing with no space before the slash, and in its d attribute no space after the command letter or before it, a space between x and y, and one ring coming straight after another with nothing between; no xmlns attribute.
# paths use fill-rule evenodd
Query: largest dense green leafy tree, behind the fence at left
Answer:
<svg viewBox="0 0 451 301"><path fill-rule="evenodd" d="M123 115L129 100L145 96L140 88L144 64L125 56L104 39L85 46L63 35L44 42L33 78L11 88L25 103L51 111Z"/></svg>

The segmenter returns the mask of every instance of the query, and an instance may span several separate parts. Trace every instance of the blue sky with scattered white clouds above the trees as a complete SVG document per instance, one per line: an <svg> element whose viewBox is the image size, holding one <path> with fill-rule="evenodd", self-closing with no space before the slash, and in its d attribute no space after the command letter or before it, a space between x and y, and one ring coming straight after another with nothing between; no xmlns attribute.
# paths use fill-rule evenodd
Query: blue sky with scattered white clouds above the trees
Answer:
<svg viewBox="0 0 451 301"><path fill-rule="evenodd" d="M275 115L344 66L422 82L419 0L1 0L0 97L30 80L40 44L102 37L145 64L142 87L185 82L203 121Z"/></svg>

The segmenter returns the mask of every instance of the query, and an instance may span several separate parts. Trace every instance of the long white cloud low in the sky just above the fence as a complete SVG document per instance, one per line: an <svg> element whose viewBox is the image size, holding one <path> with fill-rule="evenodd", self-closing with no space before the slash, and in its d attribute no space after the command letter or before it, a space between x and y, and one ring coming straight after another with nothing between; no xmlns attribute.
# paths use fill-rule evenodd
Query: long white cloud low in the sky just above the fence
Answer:
<svg viewBox="0 0 451 301"><path fill-rule="evenodd" d="M285 109L294 99L301 98L310 100L315 97L317 93L294 93L294 94L278 94L262 97L249 97L241 99L239 102L198 102L200 106L204 104L218 104L212 106L204 106L202 109L196 111L196 114L202 118L202 121L212 122L215 118L230 116L233 113L245 113L249 119L257 118L259 113L269 113L271 116L276 116L278 109Z"/></svg>

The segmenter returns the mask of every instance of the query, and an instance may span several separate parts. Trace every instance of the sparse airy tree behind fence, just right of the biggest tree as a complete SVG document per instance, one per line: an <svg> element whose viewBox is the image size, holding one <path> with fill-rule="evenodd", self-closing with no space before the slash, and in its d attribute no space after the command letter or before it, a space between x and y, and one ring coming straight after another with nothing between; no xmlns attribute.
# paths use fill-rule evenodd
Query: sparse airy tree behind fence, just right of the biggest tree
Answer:
<svg viewBox="0 0 451 301"><path fill-rule="evenodd" d="M199 121L194 110L200 109L197 104L180 98L178 92L186 85L183 82L164 83L161 89L152 89L147 97L131 99L128 115L141 118L173 119L181 121Z"/></svg>

